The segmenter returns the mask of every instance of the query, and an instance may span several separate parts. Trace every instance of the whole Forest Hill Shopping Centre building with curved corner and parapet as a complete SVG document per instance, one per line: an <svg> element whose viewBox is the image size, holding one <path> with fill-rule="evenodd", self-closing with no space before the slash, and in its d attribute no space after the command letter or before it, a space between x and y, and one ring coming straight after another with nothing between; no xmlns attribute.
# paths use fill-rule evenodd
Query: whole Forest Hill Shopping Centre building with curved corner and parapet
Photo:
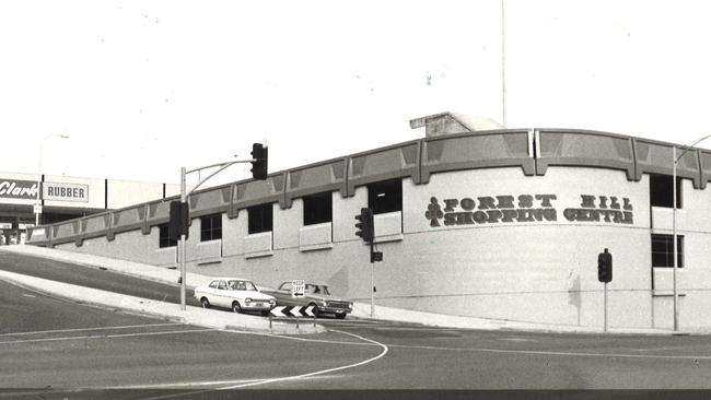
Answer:
<svg viewBox="0 0 711 400"><path fill-rule="evenodd" d="M376 304L603 325L597 255L614 255L609 325L673 325L673 144L571 129L479 129L440 114L427 136L198 191L188 270L276 286L291 279L370 299L354 215L375 213ZM711 151L679 160L679 325L711 327ZM170 201L31 230L28 243L166 268Z"/></svg>

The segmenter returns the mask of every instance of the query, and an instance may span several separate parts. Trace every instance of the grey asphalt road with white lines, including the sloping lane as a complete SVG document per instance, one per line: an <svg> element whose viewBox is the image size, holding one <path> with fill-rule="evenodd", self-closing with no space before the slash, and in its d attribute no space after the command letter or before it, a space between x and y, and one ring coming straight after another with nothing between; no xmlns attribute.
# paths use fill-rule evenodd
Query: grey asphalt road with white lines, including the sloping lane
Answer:
<svg viewBox="0 0 711 400"><path fill-rule="evenodd" d="M0 269L15 262L3 257ZM20 260L42 269L33 263L56 268ZM58 264L56 279L90 275ZM137 281L112 284L135 295L168 291ZM141 398L215 388L711 389L704 336L490 332L349 318L319 320L328 333L290 338L176 325L4 282L0 321L2 388L130 388Z"/></svg>

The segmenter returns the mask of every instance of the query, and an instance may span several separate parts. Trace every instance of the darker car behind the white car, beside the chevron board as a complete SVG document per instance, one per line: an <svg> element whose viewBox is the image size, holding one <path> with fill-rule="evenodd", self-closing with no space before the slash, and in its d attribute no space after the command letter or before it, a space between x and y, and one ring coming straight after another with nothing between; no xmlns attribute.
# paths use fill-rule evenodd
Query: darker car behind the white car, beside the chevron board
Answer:
<svg viewBox="0 0 711 400"><path fill-rule="evenodd" d="M346 318L353 310L353 303L330 294L327 285L306 283L303 297L291 295L291 281L283 282L271 292L265 291L277 298L278 306L314 306L314 314L334 314L336 318Z"/></svg>

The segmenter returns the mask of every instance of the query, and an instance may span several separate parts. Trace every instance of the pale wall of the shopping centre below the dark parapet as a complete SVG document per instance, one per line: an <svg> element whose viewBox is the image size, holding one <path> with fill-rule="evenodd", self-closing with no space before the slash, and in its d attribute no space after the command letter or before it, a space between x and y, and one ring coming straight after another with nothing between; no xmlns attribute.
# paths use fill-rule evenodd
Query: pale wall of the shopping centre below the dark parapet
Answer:
<svg viewBox="0 0 711 400"><path fill-rule="evenodd" d="M556 221L498 222L431 226L426 217L431 198L556 195ZM568 221L566 209L581 208L581 195L628 198L633 223ZM711 190L695 190L685 181L686 296L681 325L708 326L711 306ZM477 201L478 202L478 201ZM539 203L534 200L535 203ZM354 235L354 215L368 203L359 187L352 198L333 193L333 247L302 251L303 203L291 209L273 204L273 254L247 258L247 211L223 214L222 260L197 264L199 220L188 242L189 269L214 275L240 275L260 285L306 279L331 285L353 299L370 298L368 246ZM428 185L405 179L403 239L381 243L384 260L373 264L377 304L419 310L551 323L602 326L603 284L597 281L597 254L614 255L609 287L613 327L669 327L669 296L653 295L649 179L628 181L623 172L603 168L550 167L546 176L526 177L520 168L491 168L434 174ZM538 205L536 205L538 207ZM462 211L461 208L457 211ZM102 244L103 240L103 244ZM79 251L143 262L156 262L158 228L85 240ZM61 246L73 247L73 244ZM130 250L128 250L130 248ZM164 258L160 258L164 259ZM164 261L163 261L164 262ZM661 272L665 273L665 272ZM658 294L658 293L657 293Z"/></svg>

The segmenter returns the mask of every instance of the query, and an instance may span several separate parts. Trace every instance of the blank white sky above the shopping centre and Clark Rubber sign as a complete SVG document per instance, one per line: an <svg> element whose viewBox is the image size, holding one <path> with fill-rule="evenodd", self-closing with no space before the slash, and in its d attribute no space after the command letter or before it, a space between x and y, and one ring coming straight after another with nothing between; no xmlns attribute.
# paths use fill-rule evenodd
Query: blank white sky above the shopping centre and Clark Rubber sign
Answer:
<svg viewBox="0 0 711 400"><path fill-rule="evenodd" d="M271 173L501 122L503 82L508 128L711 134L711 3L503 1L4 0L0 172L177 183L266 140Z"/></svg>

